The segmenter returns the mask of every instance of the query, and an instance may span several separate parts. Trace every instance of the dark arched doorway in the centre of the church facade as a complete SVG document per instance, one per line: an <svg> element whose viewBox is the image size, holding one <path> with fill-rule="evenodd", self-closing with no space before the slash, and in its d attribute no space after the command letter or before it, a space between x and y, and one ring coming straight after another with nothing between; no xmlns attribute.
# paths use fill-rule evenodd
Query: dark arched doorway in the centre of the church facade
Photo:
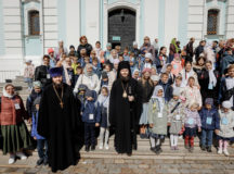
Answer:
<svg viewBox="0 0 234 174"><path fill-rule="evenodd" d="M120 8L108 12L108 42L113 48L119 45L121 50L131 48L135 40L135 12Z"/></svg>

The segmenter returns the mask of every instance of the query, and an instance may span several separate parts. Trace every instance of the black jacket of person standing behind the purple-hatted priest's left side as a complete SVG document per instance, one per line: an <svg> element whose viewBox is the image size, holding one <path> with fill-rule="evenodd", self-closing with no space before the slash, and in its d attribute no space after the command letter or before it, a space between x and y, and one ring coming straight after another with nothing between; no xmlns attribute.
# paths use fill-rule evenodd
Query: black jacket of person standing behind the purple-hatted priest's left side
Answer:
<svg viewBox="0 0 234 174"><path fill-rule="evenodd" d="M51 78L48 76L49 70L50 66L46 65L37 66L35 70L35 80L40 80L43 87L51 83Z"/></svg>

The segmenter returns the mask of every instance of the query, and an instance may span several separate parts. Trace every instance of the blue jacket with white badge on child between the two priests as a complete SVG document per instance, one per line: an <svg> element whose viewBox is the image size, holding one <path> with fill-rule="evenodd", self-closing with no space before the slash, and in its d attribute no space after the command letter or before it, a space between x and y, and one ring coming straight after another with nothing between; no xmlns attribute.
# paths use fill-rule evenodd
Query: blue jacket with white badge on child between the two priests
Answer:
<svg viewBox="0 0 234 174"><path fill-rule="evenodd" d="M100 114L98 114L98 109L95 100L86 101L82 108L82 122L84 123L100 123Z"/></svg>

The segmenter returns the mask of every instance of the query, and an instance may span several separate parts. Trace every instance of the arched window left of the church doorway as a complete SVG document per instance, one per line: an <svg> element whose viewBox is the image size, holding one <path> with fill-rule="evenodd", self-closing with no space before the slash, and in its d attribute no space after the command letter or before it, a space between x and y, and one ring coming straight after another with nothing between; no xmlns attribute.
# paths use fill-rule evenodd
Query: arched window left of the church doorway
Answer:
<svg viewBox="0 0 234 174"><path fill-rule="evenodd" d="M39 12L36 10L28 12L28 30L29 35L40 34Z"/></svg>

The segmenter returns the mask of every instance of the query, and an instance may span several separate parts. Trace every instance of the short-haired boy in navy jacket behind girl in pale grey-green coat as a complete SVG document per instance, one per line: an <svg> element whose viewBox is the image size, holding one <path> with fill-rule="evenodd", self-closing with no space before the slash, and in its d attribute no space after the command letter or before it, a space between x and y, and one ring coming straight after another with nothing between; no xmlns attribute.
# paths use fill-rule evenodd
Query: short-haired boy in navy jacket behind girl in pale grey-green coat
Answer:
<svg viewBox="0 0 234 174"><path fill-rule="evenodd" d="M161 74L161 79L159 82L159 85L164 88L164 97L166 101L170 101L170 99L172 98L172 91L173 88L171 87L171 85L168 82L168 74L167 73L162 73Z"/></svg>

